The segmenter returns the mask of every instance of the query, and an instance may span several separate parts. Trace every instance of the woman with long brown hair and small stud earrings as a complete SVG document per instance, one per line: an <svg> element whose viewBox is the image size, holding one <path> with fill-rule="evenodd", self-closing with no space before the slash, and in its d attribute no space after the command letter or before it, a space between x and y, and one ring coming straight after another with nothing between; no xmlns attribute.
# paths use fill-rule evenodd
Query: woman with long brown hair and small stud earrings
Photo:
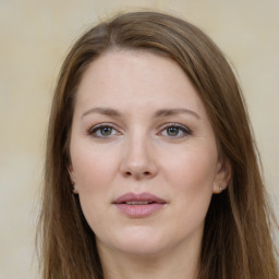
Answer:
<svg viewBox="0 0 279 279"><path fill-rule="evenodd" d="M85 33L52 102L44 278L278 278L251 134L195 26L138 12Z"/></svg>

